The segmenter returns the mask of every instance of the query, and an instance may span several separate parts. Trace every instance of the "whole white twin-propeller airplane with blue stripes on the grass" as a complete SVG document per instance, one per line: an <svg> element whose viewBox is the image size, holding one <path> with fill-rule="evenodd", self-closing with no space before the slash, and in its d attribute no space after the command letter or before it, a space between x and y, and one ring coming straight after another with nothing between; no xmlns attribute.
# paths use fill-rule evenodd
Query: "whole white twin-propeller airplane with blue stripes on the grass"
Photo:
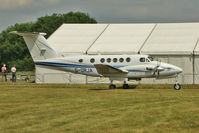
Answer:
<svg viewBox="0 0 199 133"><path fill-rule="evenodd" d="M123 81L123 88L129 88L128 80L142 78L176 78L182 69L163 62L153 61L148 55L68 55L57 53L44 38L45 33L18 32L12 34L23 36L36 65L66 72L95 77L108 77L110 89L116 88L113 80ZM181 89L177 82L174 89Z"/></svg>

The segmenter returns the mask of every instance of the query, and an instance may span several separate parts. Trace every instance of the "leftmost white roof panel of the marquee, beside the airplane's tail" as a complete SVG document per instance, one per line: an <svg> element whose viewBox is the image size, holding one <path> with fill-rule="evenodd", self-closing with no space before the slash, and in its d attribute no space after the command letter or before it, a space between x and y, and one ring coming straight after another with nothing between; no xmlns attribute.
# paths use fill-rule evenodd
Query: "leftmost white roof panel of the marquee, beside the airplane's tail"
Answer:
<svg viewBox="0 0 199 133"><path fill-rule="evenodd" d="M63 24L48 42L61 53L85 53L107 24Z"/></svg>

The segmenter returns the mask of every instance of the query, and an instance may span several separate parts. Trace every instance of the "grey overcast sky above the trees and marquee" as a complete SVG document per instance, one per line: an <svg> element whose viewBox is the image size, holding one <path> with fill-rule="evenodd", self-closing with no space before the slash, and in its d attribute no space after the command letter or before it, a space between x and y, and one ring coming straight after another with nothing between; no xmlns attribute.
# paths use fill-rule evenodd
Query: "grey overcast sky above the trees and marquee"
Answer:
<svg viewBox="0 0 199 133"><path fill-rule="evenodd" d="M199 22L199 0L0 0L0 31L52 13L81 11L99 23Z"/></svg>

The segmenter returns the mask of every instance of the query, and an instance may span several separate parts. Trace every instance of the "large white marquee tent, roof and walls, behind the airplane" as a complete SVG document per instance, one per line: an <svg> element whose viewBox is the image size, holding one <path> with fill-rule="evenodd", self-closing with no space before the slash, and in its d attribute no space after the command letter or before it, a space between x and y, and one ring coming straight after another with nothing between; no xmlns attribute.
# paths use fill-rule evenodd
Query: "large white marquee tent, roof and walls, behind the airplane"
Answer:
<svg viewBox="0 0 199 133"><path fill-rule="evenodd" d="M63 24L48 42L62 56L69 54L149 54L184 71L183 84L199 83L199 23ZM109 83L36 66L37 83ZM173 84L175 79L144 79L141 83Z"/></svg>

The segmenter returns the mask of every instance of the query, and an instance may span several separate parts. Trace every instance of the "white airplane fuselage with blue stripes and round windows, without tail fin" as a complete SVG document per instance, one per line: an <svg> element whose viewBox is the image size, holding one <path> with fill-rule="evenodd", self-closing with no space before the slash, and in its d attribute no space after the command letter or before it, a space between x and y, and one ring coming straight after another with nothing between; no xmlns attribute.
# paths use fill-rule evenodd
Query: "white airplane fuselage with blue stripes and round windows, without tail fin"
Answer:
<svg viewBox="0 0 199 133"><path fill-rule="evenodd" d="M62 70L66 72L84 74L88 76L100 77L101 74L96 70L95 64L109 65L114 68L124 70L126 74L113 74L105 77L128 78L129 80L138 80L141 78L173 78L182 69L171 64L152 61L148 55L76 55L63 58L52 58L36 61L36 65L49 67L50 69ZM152 71L159 65L159 69L164 71L159 74ZM151 70L150 70L151 69ZM103 71L108 71L104 69ZM157 77L158 76L158 77Z"/></svg>

